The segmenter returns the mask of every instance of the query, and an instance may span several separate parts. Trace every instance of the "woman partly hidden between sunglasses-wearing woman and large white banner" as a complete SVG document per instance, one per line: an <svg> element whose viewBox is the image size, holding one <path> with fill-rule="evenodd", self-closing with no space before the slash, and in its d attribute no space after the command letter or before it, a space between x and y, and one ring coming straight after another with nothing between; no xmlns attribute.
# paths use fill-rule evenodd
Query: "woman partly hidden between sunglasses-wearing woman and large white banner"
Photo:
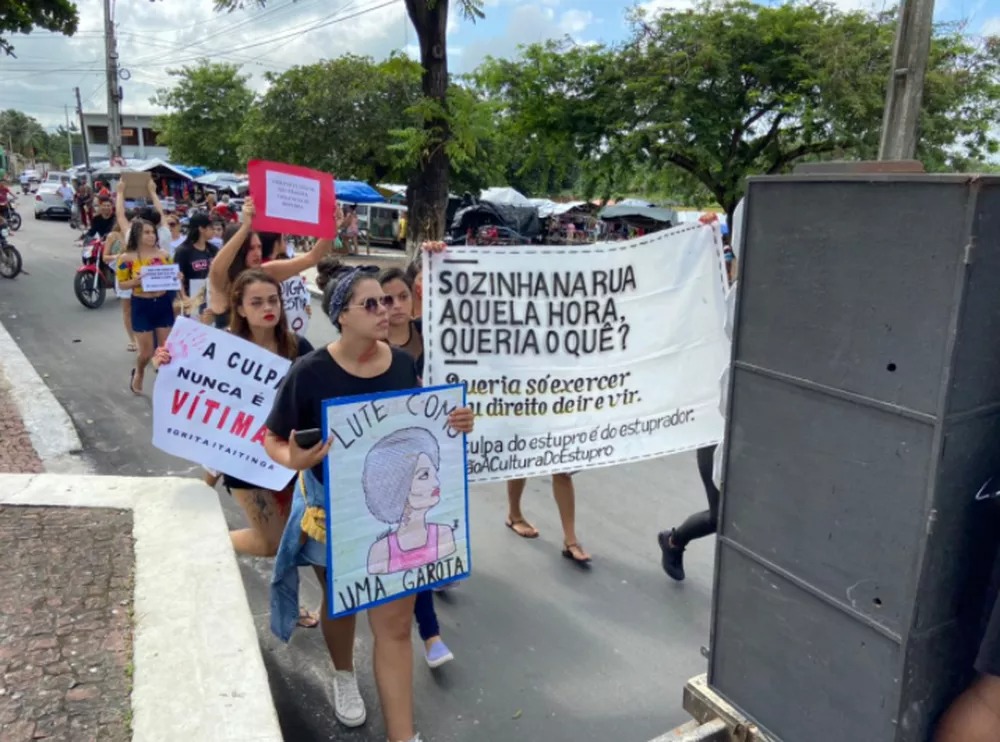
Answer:
<svg viewBox="0 0 1000 742"><path fill-rule="evenodd" d="M408 353L416 364L417 375L422 376L423 328L419 319L413 319L413 284L409 275L401 268L387 268L379 274L378 282L386 296L392 299L389 305L389 345ZM441 638L441 627L434 610L433 590L417 593L414 618L417 619L417 631L424 642L424 661L427 666L433 670L455 659L455 655Z"/></svg>

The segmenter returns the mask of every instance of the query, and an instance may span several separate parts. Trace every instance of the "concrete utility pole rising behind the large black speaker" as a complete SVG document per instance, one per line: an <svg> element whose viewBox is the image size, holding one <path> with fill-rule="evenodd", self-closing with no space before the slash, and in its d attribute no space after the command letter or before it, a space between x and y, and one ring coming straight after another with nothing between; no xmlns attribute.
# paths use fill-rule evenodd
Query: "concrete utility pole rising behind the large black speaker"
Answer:
<svg viewBox="0 0 1000 742"><path fill-rule="evenodd" d="M934 0L902 0L882 118L880 160L916 157L933 22Z"/></svg>

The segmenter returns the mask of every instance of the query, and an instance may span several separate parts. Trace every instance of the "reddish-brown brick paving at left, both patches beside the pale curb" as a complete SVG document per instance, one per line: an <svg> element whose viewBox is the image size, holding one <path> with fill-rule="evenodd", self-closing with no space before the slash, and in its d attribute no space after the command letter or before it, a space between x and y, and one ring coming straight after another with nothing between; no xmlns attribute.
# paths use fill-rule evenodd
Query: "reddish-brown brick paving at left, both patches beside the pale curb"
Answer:
<svg viewBox="0 0 1000 742"><path fill-rule="evenodd" d="M0 372L0 472L42 471ZM0 507L0 739L131 733L132 514Z"/></svg>

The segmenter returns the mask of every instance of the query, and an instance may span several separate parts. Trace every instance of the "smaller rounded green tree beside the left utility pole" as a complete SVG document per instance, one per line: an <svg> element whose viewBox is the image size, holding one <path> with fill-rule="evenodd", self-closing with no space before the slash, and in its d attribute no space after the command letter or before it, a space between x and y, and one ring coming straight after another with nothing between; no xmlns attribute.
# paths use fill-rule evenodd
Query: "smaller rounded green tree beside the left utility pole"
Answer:
<svg viewBox="0 0 1000 742"><path fill-rule="evenodd" d="M239 65L207 60L167 70L177 82L159 89L151 101L170 111L157 119L157 126L172 160L211 170L240 167L240 124L254 94L247 86L249 76L239 70Z"/></svg>

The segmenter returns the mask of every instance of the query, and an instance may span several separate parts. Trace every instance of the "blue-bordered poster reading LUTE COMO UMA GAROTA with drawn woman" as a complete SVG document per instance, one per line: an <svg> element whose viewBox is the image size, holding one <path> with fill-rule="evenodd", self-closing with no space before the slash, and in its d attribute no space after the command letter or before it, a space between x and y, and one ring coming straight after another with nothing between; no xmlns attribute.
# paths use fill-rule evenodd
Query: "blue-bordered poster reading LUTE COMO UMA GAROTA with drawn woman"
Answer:
<svg viewBox="0 0 1000 742"><path fill-rule="evenodd" d="M460 385L325 403L331 616L468 577L464 404Z"/></svg>

